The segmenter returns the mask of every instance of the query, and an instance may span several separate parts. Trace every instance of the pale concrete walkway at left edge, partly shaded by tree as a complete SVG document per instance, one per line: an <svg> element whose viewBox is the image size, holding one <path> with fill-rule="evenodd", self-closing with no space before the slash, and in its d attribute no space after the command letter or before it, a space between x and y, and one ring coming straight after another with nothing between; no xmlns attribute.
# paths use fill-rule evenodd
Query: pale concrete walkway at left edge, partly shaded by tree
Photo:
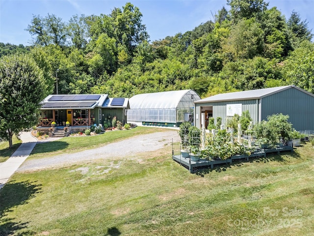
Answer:
<svg viewBox="0 0 314 236"><path fill-rule="evenodd" d="M37 139L31 136L30 132L22 132L20 138L22 140L20 147L9 159L0 163L0 188L26 160L37 143Z"/></svg>

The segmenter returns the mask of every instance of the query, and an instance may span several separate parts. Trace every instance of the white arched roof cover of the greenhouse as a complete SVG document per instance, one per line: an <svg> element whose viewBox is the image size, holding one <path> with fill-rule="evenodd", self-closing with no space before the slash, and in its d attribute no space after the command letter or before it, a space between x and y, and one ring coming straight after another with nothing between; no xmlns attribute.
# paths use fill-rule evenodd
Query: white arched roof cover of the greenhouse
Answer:
<svg viewBox="0 0 314 236"><path fill-rule="evenodd" d="M177 108L185 94L193 95L192 101L201 99L192 89L142 93L130 98L130 109L173 109Z"/></svg>

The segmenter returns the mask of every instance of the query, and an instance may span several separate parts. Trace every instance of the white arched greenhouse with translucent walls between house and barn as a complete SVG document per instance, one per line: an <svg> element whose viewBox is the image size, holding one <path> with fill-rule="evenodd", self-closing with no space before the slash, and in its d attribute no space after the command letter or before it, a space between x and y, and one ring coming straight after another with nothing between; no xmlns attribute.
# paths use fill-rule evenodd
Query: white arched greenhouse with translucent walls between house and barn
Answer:
<svg viewBox="0 0 314 236"><path fill-rule="evenodd" d="M191 89L137 94L129 100L128 122L169 127L193 122L193 102L200 99Z"/></svg>

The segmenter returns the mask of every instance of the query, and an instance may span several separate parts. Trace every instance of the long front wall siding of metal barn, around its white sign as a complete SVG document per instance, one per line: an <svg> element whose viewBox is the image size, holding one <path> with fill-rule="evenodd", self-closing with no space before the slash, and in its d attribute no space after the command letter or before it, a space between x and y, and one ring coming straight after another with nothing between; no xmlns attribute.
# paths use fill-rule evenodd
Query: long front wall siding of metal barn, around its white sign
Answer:
<svg viewBox="0 0 314 236"><path fill-rule="evenodd" d="M226 123L227 104L242 104L242 112L249 111L253 122L256 123L259 120L259 100L240 100L240 101L225 101L225 102L207 102L195 104L195 126L200 128L201 123L201 107L212 106L212 116L215 118L221 117L222 124ZM197 115L197 116L196 116ZM196 119L198 117L198 119ZM207 127L206 127L207 128Z"/></svg>

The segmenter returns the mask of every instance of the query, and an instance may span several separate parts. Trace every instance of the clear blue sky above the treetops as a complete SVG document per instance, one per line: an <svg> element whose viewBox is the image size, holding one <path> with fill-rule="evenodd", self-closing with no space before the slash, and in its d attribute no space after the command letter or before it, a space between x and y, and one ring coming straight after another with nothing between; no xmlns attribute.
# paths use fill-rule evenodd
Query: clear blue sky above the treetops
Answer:
<svg viewBox="0 0 314 236"><path fill-rule="evenodd" d="M228 8L227 0L0 0L0 42L30 45L31 35L24 29L33 15L50 13L68 22L75 14L108 15L126 2L140 9L151 41L192 30L213 20L212 15L222 6ZM269 0L269 8L273 6L286 19L295 10L314 33L314 0Z"/></svg>

